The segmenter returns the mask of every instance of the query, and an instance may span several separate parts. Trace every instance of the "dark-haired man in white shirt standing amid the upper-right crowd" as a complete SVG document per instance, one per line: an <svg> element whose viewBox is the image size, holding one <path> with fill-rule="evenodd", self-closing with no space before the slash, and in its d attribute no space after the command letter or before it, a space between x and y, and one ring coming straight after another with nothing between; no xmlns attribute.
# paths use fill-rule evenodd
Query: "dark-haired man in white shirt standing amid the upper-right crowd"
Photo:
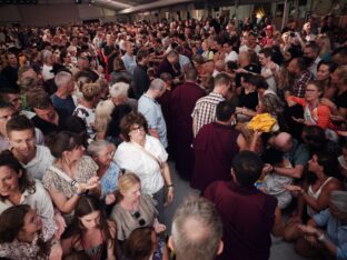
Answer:
<svg viewBox="0 0 347 260"><path fill-rule="evenodd" d="M279 72L279 66L272 61L272 50L270 48L265 48L260 50L258 57L261 64L261 76L266 79L269 89L276 93L277 83L275 76Z"/></svg>

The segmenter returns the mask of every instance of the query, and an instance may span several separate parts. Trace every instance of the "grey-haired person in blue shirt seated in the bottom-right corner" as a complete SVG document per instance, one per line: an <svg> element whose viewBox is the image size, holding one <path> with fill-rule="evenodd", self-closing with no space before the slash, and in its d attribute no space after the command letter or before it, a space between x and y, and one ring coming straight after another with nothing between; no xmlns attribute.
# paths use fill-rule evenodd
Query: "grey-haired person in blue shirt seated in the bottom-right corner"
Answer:
<svg viewBox="0 0 347 260"><path fill-rule="evenodd" d="M306 258L347 258L347 191L333 191L329 208L315 214L308 226L299 226L305 236L296 243L298 254ZM321 230L326 228L326 231Z"/></svg>

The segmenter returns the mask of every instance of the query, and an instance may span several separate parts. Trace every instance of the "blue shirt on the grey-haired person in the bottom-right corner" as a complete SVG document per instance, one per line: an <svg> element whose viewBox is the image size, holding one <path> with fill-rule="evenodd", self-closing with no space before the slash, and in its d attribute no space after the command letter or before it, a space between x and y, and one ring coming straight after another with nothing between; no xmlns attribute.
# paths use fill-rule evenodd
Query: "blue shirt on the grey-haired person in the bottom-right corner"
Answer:
<svg viewBox="0 0 347 260"><path fill-rule="evenodd" d="M343 226L341 221L334 218L329 209L320 211L314 216L314 220L318 227L327 227L327 236L337 247L337 260L347 259L347 226Z"/></svg>

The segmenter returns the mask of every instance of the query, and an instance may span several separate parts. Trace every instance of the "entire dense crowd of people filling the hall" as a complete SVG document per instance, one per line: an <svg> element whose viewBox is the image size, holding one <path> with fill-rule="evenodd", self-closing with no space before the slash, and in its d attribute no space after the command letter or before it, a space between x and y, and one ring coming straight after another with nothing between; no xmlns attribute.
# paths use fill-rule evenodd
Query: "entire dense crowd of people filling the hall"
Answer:
<svg viewBox="0 0 347 260"><path fill-rule="evenodd" d="M0 258L347 259L334 19L0 28Z"/></svg>

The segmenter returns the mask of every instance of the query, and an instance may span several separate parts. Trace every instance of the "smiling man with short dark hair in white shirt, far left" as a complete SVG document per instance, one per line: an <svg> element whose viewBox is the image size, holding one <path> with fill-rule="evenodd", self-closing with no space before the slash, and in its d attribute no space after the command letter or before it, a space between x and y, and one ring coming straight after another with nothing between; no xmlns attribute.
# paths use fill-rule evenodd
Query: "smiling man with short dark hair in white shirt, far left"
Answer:
<svg viewBox="0 0 347 260"><path fill-rule="evenodd" d="M11 118L6 124L11 151L30 178L41 180L54 158L44 146L34 143L33 123L26 116Z"/></svg>

